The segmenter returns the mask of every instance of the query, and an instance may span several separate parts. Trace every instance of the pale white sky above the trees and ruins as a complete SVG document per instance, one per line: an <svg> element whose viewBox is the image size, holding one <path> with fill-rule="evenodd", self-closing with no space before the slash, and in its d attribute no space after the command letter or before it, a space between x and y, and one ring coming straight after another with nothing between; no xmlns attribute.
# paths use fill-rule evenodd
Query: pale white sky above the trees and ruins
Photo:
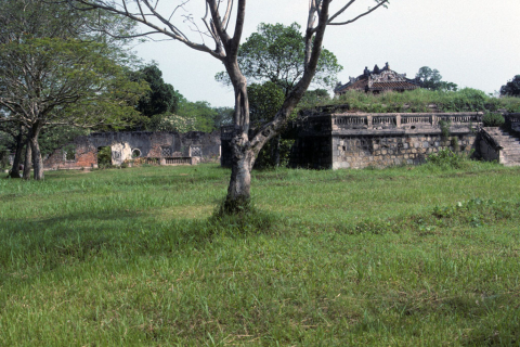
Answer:
<svg viewBox="0 0 520 347"><path fill-rule="evenodd" d="M304 27L308 2L249 0L243 41L261 22L297 22ZM359 3L356 10L364 10L374 2ZM520 0L391 0L388 9L378 9L354 24L329 26L324 47L343 66L338 76L343 83L349 76L361 75L365 66L372 69L389 62L393 70L406 73L408 78L415 77L419 67L430 66L459 88L490 93L520 74L519 18ZM231 88L214 80L223 66L209 54L178 41L146 42L135 50L143 60L155 60L165 80L187 100L233 106Z"/></svg>

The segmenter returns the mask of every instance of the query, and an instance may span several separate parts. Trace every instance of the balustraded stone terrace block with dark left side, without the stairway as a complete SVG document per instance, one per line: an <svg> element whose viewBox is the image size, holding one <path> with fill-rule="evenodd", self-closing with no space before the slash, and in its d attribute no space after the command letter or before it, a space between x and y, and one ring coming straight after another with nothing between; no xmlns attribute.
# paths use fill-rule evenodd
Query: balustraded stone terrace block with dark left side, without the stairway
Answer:
<svg viewBox="0 0 520 347"><path fill-rule="evenodd" d="M290 166L365 168L417 165L443 149L470 153L482 113L344 113L307 111ZM444 129L443 129L444 128Z"/></svg>

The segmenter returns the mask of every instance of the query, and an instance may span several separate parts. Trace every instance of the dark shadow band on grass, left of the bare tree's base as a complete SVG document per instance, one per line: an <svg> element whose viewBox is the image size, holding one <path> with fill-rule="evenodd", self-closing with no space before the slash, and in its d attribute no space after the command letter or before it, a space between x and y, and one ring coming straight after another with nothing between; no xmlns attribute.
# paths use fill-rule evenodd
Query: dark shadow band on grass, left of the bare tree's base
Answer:
<svg viewBox="0 0 520 347"><path fill-rule="evenodd" d="M54 269L64 260L170 254L200 248L216 236L244 237L273 232L277 218L263 211L208 219L157 220L154 211L82 211L52 218L11 219L0 229L0 266Z"/></svg>

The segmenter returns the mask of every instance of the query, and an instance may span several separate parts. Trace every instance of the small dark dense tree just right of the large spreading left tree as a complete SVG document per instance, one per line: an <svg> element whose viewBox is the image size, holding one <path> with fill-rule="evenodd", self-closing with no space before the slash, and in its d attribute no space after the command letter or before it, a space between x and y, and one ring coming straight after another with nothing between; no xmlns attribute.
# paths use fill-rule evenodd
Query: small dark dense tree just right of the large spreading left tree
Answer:
<svg viewBox="0 0 520 347"><path fill-rule="evenodd" d="M165 82L162 72L157 65L142 67L135 77L150 85L150 91L139 100L136 106L143 116L151 118L158 114L177 112L181 95L173 86Z"/></svg>

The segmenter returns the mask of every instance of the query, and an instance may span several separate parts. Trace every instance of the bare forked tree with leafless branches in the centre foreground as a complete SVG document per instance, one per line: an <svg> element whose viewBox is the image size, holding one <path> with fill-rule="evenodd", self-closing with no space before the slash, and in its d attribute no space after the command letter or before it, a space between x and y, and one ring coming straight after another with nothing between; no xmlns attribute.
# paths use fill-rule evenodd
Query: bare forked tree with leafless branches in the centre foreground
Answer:
<svg viewBox="0 0 520 347"><path fill-rule="evenodd" d="M328 25L347 25L354 23L373 11L386 7L388 0L375 1L375 5L351 20L340 20L358 0L337 0L334 10L333 0L309 0L309 12L304 35L304 72L300 80L287 94L282 107L274 118L256 129L249 139L249 103L247 98L246 78L240 72L237 62L238 46L240 43L247 0L206 0L205 15L200 23L190 13L191 0L180 0L174 4L164 4L159 0L67 0L70 4L81 9L102 9L123 15L145 25L150 31L142 35L162 34L181 41L187 47L212 55L220 60L230 76L235 92L235 112L233 115L234 133L232 140L233 166L230 187L224 208L233 213L237 207L244 207L249 202L251 168L257 154L272 137L283 129L291 111L302 98L312 78L315 75L323 38ZM234 25L230 27L232 15L236 14ZM187 24L181 29L180 25ZM197 34L200 41L191 38ZM209 39L212 48L205 43Z"/></svg>

